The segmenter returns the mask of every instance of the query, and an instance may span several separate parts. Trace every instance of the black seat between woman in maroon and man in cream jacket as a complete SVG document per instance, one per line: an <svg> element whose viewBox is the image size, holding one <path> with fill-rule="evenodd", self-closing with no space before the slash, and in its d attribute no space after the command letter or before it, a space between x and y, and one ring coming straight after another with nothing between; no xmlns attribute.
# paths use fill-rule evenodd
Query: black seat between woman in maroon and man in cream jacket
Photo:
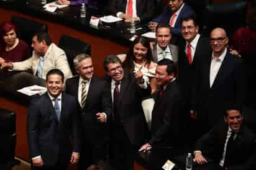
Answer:
<svg viewBox="0 0 256 170"><path fill-rule="evenodd" d="M42 24L35 20L25 19L18 16L12 16L12 22L16 25L18 29L18 37L24 40L29 47L32 43L33 35L36 32L48 32L48 27L46 24ZM32 47L30 47L30 54L32 55Z"/></svg>

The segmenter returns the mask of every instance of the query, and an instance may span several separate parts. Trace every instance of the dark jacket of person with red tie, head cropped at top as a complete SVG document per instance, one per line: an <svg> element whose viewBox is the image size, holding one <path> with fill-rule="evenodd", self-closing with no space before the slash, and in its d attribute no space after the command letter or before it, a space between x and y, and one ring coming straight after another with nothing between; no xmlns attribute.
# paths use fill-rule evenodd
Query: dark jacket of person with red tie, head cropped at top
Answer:
<svg viewBox="0 0 256 170"><path fill-rule="evenodd" d="M127 0L109 0L106 7L106 14L116 16L117 12L126 13ZM141 22L148 22L153 17L154 2L153 0L136 1L137 16Z"/></svg>

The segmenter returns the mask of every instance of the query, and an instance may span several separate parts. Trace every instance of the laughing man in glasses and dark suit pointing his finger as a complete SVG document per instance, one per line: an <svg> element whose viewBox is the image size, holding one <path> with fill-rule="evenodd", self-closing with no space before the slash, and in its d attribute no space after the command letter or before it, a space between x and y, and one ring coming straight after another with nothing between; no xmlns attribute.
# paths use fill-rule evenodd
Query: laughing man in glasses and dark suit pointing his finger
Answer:
<svg viewBox="0 0 256 170"><path fill-rule="evenodd" d="M135 153L149 134L141 101L151 89L140 71L124 70L117 56L107 56L104 69L113 102L109 163L116 169L134 169Z"/></svg>

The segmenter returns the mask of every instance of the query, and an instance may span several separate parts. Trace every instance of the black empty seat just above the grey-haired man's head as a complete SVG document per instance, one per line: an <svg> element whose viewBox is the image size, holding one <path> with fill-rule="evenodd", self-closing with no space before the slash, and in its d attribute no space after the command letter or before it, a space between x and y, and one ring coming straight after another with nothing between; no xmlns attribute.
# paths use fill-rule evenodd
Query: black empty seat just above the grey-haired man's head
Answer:
<svg viewBox="0 0 256 170"><path fill-rule="evenodd" d="M73 66L73 60L75 56L80 53L91 55L91 45L89 45L89 43L83 42L65 34L60 37L58 46L65 51L73 75L77 74Z"/></svg>

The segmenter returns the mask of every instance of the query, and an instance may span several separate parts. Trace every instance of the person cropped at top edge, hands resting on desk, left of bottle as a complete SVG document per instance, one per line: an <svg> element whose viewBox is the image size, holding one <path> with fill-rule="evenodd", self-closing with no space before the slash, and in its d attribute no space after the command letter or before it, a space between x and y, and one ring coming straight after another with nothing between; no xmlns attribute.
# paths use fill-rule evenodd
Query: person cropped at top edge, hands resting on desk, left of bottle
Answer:
<svg viewBox="0 0 256 170"><path fill-rule="evenodd" d="M81 5L85 3L88 7L99 9L100 0L57 0L58 4L61 5Z"/></svg>

